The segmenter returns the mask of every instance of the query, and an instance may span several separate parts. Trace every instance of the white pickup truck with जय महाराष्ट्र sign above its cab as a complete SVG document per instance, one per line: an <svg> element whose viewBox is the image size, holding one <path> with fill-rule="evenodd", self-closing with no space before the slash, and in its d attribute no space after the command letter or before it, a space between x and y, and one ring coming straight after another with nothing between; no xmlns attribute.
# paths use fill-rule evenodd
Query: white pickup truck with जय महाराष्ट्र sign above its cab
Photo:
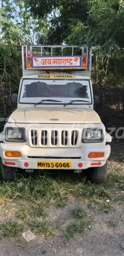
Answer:
<svg viewBox="0 0 124 256"><path fill-rule="evenodd" d="M46 55L46 47L51 53ZM53 49L71 48L70 56ZM18 178L22 170L86 170L102 183L108 173L112 138L93 110L92 51L76 46L22 46L23 77L12 96L17 109L1 134L3 180ZM77 47L78 48L78 47Z"/></svg>

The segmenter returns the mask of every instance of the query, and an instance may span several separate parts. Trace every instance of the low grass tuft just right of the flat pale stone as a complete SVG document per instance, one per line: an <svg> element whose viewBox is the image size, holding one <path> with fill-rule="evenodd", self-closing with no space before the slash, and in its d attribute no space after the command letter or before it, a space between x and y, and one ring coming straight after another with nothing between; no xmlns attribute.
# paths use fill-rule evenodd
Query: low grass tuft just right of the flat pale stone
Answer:
<svg viewBox="0 0 124 256"><path fill-rule="evenodd" d="M31 221L29 223L29 226L31 227L32 232L35 234L44 237L45 239L52 237L55 234L55 230L50 227L45 221Z"/></svg>

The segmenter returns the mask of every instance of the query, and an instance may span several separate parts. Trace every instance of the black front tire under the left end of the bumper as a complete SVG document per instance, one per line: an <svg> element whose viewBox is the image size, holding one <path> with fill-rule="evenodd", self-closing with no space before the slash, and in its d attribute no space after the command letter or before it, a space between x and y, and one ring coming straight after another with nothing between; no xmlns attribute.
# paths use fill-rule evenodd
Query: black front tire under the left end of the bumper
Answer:
<svg viewBox="0 0 124 256"><path fill-rule="evenodd" d="M2 177L4 181L14 181L18 179L18 171L15 167L5 166L2 163Z"/></svg>

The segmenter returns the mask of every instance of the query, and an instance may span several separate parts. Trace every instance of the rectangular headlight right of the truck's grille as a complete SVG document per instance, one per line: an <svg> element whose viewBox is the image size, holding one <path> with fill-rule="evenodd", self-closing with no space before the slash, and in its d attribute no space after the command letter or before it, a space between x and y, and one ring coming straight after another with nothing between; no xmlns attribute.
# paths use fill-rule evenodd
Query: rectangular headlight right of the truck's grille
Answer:
<svg viewBox="0 0 124 256"><path fill-rule="evenodd" d="M83 143L102 142L103 141L103 130L98 129L84 129L82 135Z"/></svg>

